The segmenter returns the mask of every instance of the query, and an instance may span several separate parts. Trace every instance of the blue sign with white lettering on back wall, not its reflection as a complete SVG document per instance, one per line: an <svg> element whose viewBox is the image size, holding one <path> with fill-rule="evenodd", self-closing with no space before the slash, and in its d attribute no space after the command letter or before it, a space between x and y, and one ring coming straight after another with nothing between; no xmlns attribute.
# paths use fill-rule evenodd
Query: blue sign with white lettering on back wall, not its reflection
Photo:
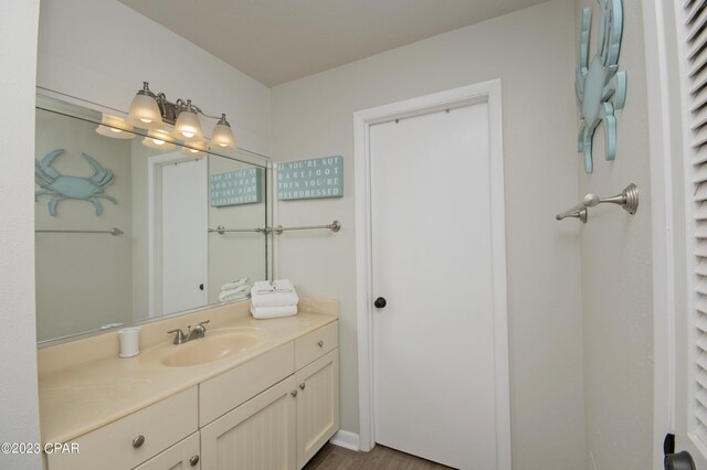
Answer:
<svg viewBox="0 0 707 470"><path fill-rule="evenodd" d="M344 196L344 158L324 157L277 165L277 199Z"/></svg>

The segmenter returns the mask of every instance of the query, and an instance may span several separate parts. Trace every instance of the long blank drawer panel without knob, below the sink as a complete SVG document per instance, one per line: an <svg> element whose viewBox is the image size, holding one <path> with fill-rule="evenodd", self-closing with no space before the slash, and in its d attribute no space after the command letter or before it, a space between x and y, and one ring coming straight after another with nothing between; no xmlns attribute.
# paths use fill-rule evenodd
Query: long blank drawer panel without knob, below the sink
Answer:
<svg viewBox="0 0 707 470"><path fill-rule="evenodd" d="M292 342L199 385L199 426L204 426L295 372Z"/></svg>

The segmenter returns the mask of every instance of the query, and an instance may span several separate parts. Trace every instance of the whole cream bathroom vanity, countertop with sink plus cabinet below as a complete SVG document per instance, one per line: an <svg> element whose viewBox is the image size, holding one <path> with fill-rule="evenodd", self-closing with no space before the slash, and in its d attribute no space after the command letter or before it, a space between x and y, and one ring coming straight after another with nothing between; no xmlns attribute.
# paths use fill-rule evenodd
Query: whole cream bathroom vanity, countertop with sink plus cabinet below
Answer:
<svg viewBox="0 0 707 470"><path fill-rule="evenodd" d="M339 428L338 302L254 320L249 301L39 351L42 445L62 469L300 469ZM205 338L166 333L210 320ZM190 350L191 349L191 350Z"/></svg>

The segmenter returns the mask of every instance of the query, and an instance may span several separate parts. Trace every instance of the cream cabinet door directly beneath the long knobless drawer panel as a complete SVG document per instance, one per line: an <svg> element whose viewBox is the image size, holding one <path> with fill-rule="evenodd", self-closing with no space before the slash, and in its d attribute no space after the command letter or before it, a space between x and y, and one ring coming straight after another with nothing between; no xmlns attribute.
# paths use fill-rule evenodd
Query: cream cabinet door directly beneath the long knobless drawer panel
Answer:
<svg viewBox="0 0 707 470"><path fill-rule="evenodd" d="M294 376L201 428L204 470L292 470L297 463Z"/></svg>

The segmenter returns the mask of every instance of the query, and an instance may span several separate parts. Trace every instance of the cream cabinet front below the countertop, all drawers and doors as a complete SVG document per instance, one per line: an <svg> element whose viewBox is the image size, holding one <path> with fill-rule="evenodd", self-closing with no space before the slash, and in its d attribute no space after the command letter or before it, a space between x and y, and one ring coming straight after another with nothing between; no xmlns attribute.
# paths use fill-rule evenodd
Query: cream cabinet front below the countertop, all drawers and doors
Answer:
<svg viewBox="0 0 707 470"><path fill-rule="evenodd" d="M298 470L339 428L338 351L334 321L72 439L80 452L48 468Z"/></svg>

